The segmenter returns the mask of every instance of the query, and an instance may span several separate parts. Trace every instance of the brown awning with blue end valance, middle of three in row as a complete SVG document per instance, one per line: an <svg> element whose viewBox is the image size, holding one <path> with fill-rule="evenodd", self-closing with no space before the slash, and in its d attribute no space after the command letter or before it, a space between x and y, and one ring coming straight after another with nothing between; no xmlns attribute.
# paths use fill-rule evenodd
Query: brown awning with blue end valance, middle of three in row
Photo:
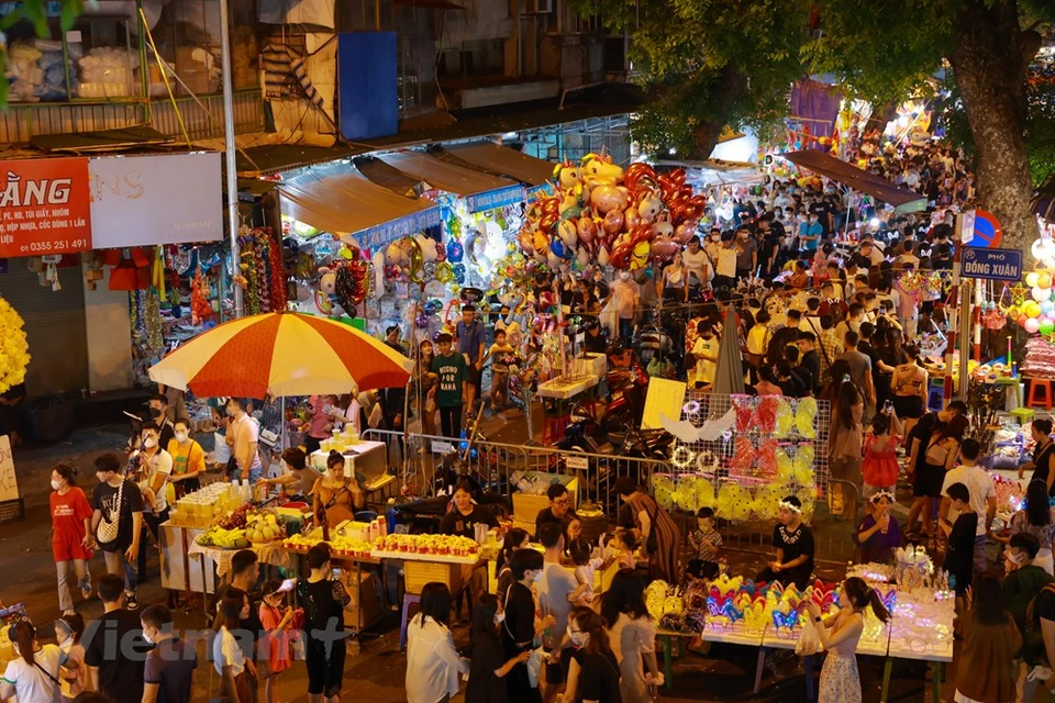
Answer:
<svg viewBox="0 0 1055 703"><path fill-rule="evenodd" d="M420 152L385 154L380 159L433 188L464 197L469 212L502 208L524 200L524 187L517 181L457 166Z"/></svg>

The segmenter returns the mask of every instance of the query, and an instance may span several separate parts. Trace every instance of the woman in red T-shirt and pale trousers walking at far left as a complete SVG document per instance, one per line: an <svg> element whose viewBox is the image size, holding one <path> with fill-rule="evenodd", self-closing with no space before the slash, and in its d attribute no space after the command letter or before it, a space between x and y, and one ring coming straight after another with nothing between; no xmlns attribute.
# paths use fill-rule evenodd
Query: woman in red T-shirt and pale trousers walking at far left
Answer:
<svg viewBox="0 0 1055 703"><path fill-rule="evenodd" d="M58 571L58 607L63 614L74 613L69 592L69 562L74 562L77 585L86 599L91 595L91 505L85 492L74 486L77 475L69 464L59 464L52 470L52 555Z"/></svg>

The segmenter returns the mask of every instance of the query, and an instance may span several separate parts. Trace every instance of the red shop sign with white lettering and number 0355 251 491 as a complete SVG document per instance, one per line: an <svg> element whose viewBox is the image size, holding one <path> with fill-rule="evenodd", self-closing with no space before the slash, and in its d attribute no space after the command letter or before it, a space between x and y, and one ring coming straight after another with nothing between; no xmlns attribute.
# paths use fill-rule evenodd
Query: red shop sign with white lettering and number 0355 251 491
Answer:
<svg viewBox="0 0 1055 703"><path fill-rule="evenodd" d="M92 248L87 158L0 161L0 257Z"/></svg>

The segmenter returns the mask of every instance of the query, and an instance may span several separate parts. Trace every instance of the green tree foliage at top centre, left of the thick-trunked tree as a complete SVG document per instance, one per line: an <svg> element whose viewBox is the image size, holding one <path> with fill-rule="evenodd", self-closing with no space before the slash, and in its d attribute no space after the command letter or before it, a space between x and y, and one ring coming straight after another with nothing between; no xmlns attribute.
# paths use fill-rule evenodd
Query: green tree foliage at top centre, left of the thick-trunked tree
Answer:
<svg viewBox="0 0 1055 703"><path fill-rule="evenodd" d="M809 5L787 0L581 0L631 34L648 96L632 130L653 153L706 158L725 125L763 132L787 113L802 74Z"/></svg>

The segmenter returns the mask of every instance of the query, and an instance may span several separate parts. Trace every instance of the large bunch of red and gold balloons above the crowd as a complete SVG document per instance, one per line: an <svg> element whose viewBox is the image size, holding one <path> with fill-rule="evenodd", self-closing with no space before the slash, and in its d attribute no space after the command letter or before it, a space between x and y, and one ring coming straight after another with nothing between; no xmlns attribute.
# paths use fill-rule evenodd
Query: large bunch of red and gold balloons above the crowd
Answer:
<svg viewBox="0 0 1055 703"><path fill-rule="evenodd" d="M696 234L707 205L684 170L656 174L638 163L623 171L604 154L558 165L554 182L554 196L529 207L518 242L525 257L559 272L591 261L637 270L669 258Z"/></svg>

